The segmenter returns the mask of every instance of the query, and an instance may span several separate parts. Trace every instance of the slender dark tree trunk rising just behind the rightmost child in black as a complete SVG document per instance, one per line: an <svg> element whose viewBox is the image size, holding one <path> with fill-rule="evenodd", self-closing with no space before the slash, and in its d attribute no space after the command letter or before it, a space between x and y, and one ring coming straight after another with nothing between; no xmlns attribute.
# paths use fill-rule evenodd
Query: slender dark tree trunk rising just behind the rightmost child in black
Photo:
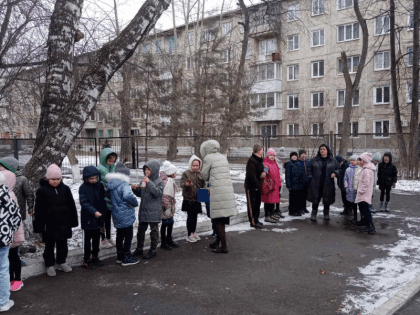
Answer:
<svg viewBox="0 0 420 315"><path fill-rule="evenodd" d="M400 150L399 159L404 167L409 163L407 159L407 147L402 131L400 104L398 101L397 89L397 62L395 58L395 3L394 0L389 1L390 4L390 46L391 46L391 91L392 91L392 107L394 108L395 132L398 139L398 147Z"/></svg>

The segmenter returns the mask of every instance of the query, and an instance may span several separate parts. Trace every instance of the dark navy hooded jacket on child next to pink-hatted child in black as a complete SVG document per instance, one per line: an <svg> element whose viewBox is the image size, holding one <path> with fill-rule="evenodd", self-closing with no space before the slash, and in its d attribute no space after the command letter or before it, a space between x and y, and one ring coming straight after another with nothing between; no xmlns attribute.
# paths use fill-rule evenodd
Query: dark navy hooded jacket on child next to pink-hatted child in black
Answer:
<svg viewBox="0 0 420 315"><path fill-rule="evenodd" d="M95 184L88 184L87 179L98 176ZM96 230L103 225L103 218L96 218L95 212L104 214L107 210L105 202L105 188L101 183L101 173L94 166L86 166L83 169L84 183L79 188L79 201L82 206L80 217L83 230Z"/></svg>

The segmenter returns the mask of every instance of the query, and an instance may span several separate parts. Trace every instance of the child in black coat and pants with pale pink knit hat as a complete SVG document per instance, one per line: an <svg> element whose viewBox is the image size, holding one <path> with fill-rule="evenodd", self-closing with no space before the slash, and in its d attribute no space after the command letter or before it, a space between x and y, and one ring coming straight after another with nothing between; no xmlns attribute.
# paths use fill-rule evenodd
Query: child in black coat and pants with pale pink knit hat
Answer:
<svg viewBox="0 0 420 315"><path fill-rule="evenodd" d="M34 232L42 233L45 243L44 261L47 275L56 275L54 265L58 263L58 270L71 272L66 264L68 253L67 239L72 237L72 228L79 225L76 204L68 186L61 180L60 168L51 164L45 178L41 179L35 197ZM56 248L57 255L54 255Z"/></svg>

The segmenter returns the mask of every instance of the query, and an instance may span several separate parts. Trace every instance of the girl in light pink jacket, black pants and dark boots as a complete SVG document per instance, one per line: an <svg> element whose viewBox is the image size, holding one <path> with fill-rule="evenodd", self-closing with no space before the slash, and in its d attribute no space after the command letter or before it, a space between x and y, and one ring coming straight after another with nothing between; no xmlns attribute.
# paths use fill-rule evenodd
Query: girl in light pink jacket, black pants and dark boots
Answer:
<svg viewBox="0 0 420 315"><path fill-rule="evenodd" d="M373 182L375 180L376 171L376 167L371 161L371 153L365 152L359 156L359 163L362 167L362 171L359 175L356 203L359 204L359 209L364 214L367 223L364 231L368 234L375 234L375 225L373 224L372 214L369 210L369 205L372 202Z"/></svg>

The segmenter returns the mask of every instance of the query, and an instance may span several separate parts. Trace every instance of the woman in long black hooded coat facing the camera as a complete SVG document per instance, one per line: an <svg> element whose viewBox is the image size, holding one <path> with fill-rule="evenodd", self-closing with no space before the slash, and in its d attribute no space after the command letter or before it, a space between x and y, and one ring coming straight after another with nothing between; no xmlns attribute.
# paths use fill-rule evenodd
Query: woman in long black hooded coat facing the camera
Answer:
<svg viewBox="0 0 420 315"><path fill-rule="evenodd" d="M326 144L319 146L318 154L309 163L308 201L312 202L311 220L316 220L318 206L322 199L324 219L330 219L330 205L335 202L334 178L340 175L340 165Z"/></svg>

